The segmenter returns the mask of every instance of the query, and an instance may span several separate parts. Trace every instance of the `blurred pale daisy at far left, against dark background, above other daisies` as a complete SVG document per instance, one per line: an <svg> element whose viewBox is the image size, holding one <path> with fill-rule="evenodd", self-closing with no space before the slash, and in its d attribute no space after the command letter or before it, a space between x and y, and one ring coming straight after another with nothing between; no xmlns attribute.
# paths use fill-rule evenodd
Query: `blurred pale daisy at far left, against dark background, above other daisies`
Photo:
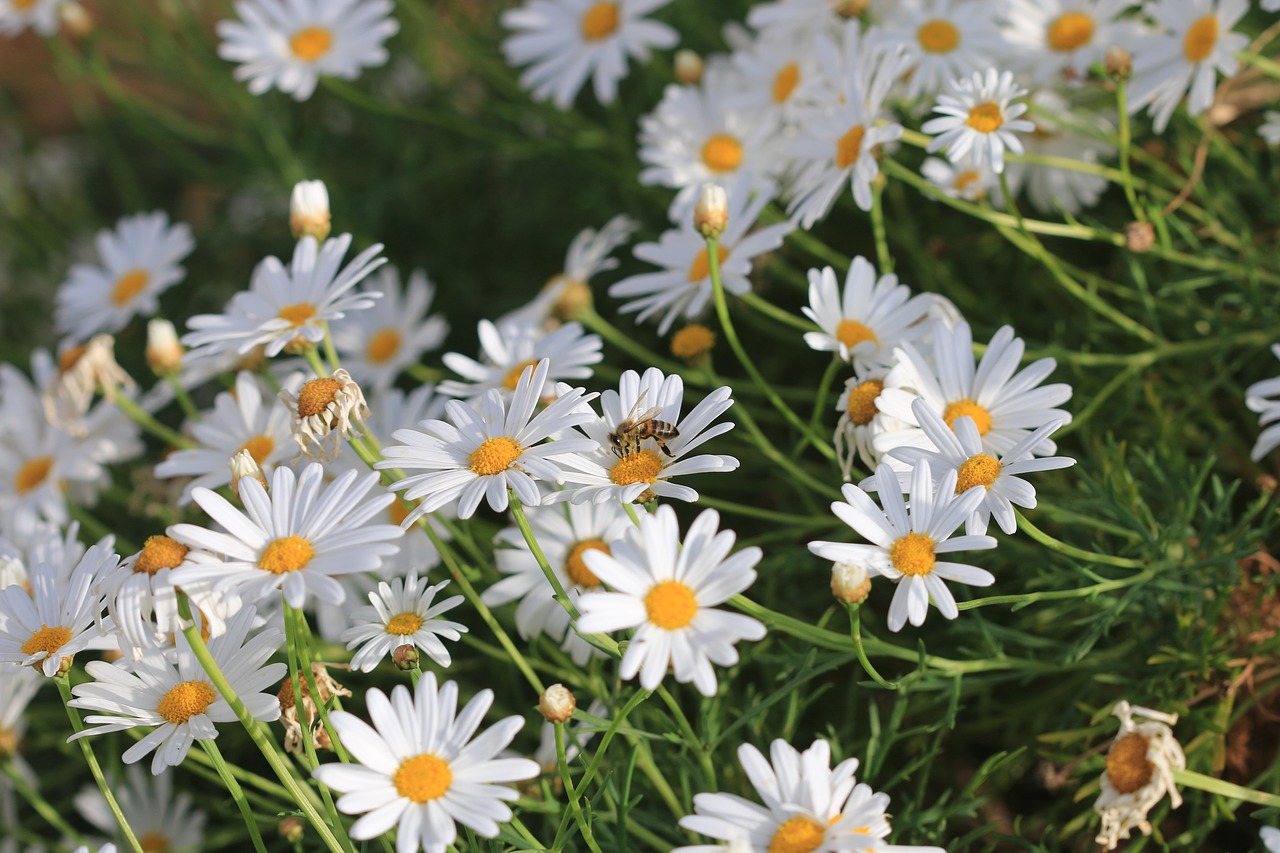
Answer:
<svg viewBox="0 0 1280 853"><path fill-rule="evenodd" d="M54 328L73 341L119 332L138 314L160 309L160 295L182 280L182 260L196 247L191 228L164 211L136 214L97 232L101 266L77 264L58 289Z"/></svg>

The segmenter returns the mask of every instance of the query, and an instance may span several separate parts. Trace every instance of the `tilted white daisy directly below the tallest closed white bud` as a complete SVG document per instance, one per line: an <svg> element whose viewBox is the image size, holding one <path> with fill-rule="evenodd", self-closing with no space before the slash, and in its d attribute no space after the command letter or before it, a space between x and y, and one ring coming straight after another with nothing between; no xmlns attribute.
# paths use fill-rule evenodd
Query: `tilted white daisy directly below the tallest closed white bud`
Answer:
<svg viewBox="0 0 1280 853"><path fill-rule="evenodd" d="M351 234L317 245L303 237L293 250L289 266L268 257L253 270L248 291L232 297L223 314L197 314L187 320L192 329L182 342L193 353L211 356L234 348L241 355L265 347L268 357L294 341L320 343L325 324L347 311L367 309L381 296L378 291L349 292L366 275L387 263L378 257L381 243L360 252L339 270L351 246Z"/></svg>

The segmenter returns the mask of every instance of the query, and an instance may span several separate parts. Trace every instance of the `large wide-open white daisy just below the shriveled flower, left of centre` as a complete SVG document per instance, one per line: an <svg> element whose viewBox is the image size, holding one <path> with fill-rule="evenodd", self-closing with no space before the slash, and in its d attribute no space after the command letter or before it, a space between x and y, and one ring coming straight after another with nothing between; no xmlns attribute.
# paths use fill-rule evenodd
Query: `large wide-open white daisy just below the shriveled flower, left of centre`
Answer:
<svg viewBox="0 0 1280 853"><path fill-rule="evenodd" d="M384 556L396 553L403 530L372 521L394 500L387 492L365 500L378 484L376 474L357 478L347 471L329 484L324 476L317 462L301 475L276 467L270 493L246 476L239 482L243 512L216 492L193 489L192 500L225 533L195 524L175 524L166 533L221 560L184 565L174 570L173 583L207 581L215 594L234 593L248 603L276 589L291 607L302 607L308 596L342 603L346 593L334 575L378 569Z"/></svg>

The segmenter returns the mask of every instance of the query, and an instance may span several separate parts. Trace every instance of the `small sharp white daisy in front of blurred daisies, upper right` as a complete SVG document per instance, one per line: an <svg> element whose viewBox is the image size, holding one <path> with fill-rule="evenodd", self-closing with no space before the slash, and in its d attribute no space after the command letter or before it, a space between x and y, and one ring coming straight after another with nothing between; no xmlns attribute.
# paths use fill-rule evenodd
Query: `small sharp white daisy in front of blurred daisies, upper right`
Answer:
<svg viewBox="0 0 1280 853"><path fill-rule="evenodd" d="M1023 142L1015 133L1029 133L1036 126L1018 118L1027 111L1025 104L1012 101L1027 93L1014 83L1012 72L1000 73L988 68L987 73L974 72L947 83L947 92L938 95L933 106L940 118L929 119L920 129L936 134L928 151L946 150L952 163L991 164L991 170L1005 170L1005 150L1023 152Z"/></svg>

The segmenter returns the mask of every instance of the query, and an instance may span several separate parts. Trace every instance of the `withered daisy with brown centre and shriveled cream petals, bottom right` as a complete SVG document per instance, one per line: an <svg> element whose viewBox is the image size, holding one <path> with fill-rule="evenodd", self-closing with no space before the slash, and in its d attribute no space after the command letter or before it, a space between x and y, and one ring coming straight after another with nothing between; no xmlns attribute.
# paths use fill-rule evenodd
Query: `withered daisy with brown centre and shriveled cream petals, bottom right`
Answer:
<svg viewBox="0 0 1280 853"><path fill-rule="evenodd" d="M1183 804L1174 785L1174 770L1187 767L1187 756L1170 729L1178 722L1176 713L1130 706L1124 699L1111 713L1120 719L1120 731L1107 749L1102 793L1093 803L1093 811L1102 816L1102 829L1094 840L1107 850L1114 850L1133 830L1151 835L1147 813L1166 793L1172 808ZM1146 721L1134 722L1134 716Z"/></svg>

